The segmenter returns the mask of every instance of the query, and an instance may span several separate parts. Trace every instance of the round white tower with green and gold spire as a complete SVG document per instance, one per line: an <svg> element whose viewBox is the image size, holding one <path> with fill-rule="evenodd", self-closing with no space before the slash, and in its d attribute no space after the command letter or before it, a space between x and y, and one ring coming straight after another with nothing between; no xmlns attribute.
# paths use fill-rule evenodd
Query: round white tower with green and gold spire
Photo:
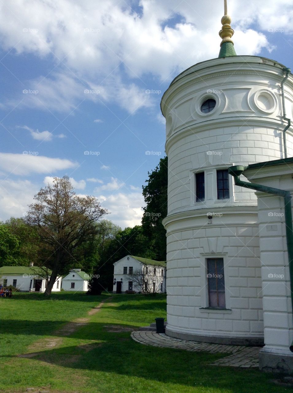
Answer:
<svg viewBox="0 0 293 393"><path fill-rule="evenodd" d="M257 197L227 169L293 155L293 75L276 61L237 56L230 23L225 7L219 57L178 75L161 101L166 334L251 345L264 343Z"/></svg>

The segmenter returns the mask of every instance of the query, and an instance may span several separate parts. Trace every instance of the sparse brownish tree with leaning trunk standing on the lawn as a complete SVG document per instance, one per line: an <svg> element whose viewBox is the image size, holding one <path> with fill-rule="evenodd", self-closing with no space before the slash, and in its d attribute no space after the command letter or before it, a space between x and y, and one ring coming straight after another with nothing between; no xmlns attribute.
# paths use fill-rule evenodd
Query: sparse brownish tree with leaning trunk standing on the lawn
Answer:
<svg viewBox="0 0 293 393"><path fill-rule="evenodd" d="M66 274L77 262L80 248L97 235L95 223L104 214L94 196L77 196L69 177L55 177L53 185L41 188L29 206L26 222L37 228L40 258L52 272L45 295L51 294L57 275Z"/></svg>

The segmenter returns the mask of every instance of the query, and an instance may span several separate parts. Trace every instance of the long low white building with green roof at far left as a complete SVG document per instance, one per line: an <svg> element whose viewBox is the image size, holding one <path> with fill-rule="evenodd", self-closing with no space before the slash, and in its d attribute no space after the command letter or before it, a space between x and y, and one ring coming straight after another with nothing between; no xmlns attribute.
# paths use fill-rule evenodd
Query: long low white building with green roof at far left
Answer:
<svg viewBox="0 0 293 393"><path fill-rule="evenodd" d="M0 268L0 284L5 287L12 285L21 292L45 292L50 270L37 266L2 266ZM58 292L61 288L61 276L58 276L52 291Z"/></svg>

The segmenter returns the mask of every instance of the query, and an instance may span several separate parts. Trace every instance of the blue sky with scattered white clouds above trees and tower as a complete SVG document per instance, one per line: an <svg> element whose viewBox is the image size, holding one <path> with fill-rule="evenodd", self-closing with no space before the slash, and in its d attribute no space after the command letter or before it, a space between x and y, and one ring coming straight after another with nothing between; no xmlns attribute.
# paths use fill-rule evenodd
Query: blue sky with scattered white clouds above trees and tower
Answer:
<svg viewBox="0 0 293 393"><path fill-rule="evenodd" d="M293 68L291 1L243 3L228 1L236 53ZM222 15L219 0L2 3L0 219L67 174L107 219L139 224L141 186L164 156L161 96L218 56Z"/></svg>

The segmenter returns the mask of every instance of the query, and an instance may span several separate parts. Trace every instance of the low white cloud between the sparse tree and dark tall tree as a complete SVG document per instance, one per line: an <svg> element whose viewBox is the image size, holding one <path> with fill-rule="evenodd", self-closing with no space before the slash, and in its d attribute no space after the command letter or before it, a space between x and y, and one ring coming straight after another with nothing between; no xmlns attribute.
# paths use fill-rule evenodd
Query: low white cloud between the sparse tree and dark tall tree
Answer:
<svg viewBox="0 0 293 393"><path fill-rule="evenodd" d="M100 195L97 197L103 208L111 213L107 216L108 220L116 225L125 228L141 224L143 216L144 200L141 193L117 193L109 196Z"/></svg>

